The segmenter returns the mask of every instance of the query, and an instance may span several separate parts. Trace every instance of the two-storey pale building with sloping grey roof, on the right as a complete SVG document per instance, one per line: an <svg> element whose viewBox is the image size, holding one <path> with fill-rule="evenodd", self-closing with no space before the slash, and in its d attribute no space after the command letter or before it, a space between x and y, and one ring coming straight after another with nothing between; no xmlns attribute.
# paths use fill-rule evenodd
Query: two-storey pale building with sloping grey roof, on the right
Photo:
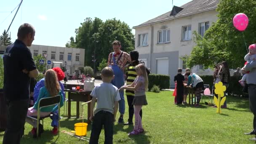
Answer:
<svg viewBox="0 0 256 144"><path fill-rule="evenodd" d="M139 58L145 61L153 73L173 77L179 67L186 69L185 61L180 58L190 55L193 31L204 35L217 18L216 8L219 0L192 0L181 7L173 6L172 11L144 22L135 29L135 49ZM203 71L202 66L192 69L199 75L212 75L212 70Z"/></svg>

